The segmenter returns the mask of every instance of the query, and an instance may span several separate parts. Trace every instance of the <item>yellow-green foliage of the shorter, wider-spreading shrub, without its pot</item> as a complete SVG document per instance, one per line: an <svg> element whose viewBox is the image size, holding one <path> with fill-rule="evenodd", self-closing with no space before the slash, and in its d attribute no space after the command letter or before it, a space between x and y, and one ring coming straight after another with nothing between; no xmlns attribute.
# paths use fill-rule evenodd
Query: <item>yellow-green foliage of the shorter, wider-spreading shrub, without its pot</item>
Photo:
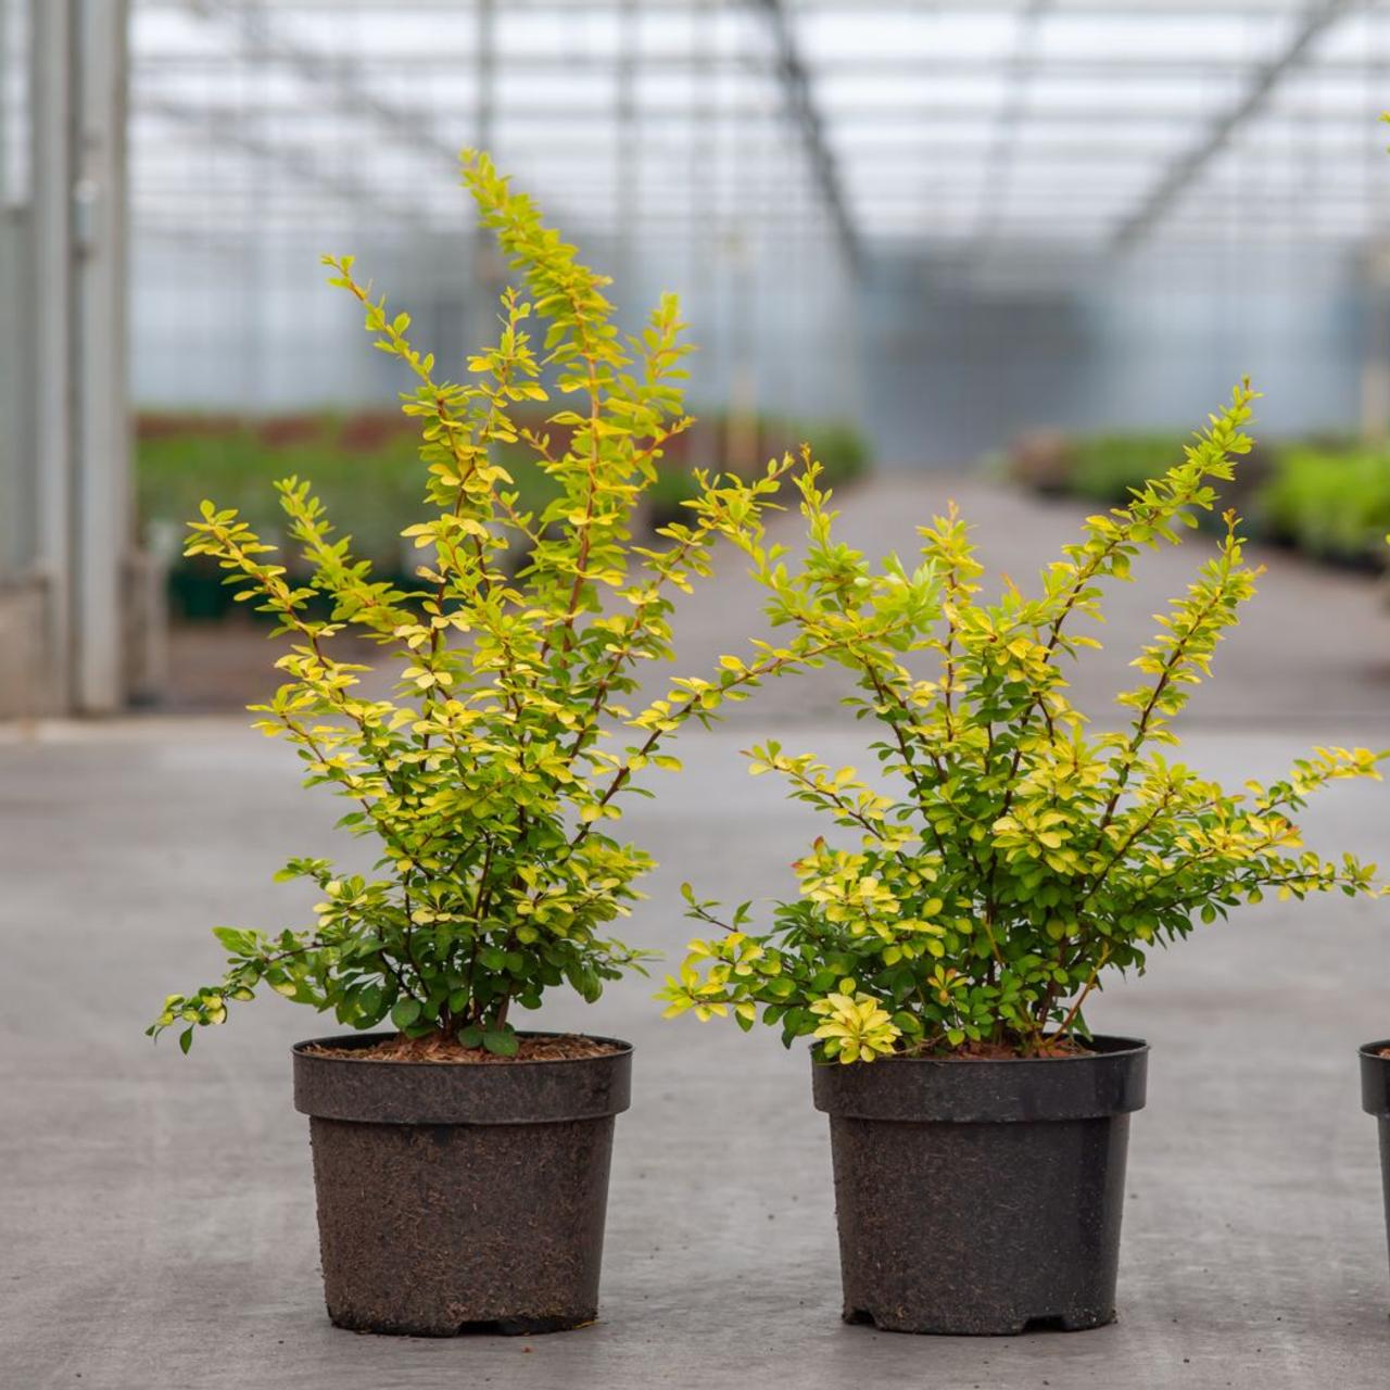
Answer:
<svg viewBox="0 0 1390 1390"><path fill-rule="evenodd" d="M1105 584L1129 580L1145 546L1176 543L1194 510L1212 507L1212 485L1250 448L1251 399L1241 385L1180 463L1129 506L1091 517L1037 596L1006 584L995 603L979 599L981 566L954 507L922 528L940 613L923 609L892 642L866 635L847 649L862 689L851 703L883 728L873 748L885 778L776 742L753 749L755 774L781 774L848 835L815 842L796 865L799 898L766 933L748 930L746 903L726 926L687 888L691 915L724 934L691 942L662 994L669 1015L733 1012L748 1029L760 1012L788 1044L810 1034L820 1056L842 1062L1033 1055L1086 1037L1083 1006L1105 973L1143 969L1154 944L1187 935L1194 919L1272 891L1383 891L1373 866L1304 849L1290 819L1334 778L1376 777L1376 755L1322 748L1243 791L1169 760L1173 717L1255 589L1234 516L1133 663L1140 678L1118 696L1126 726L1093 734L1068 701L1069 663L1098 645L1077 620L1098 620ZM773 610L817 631L873 577L834 542L813 473L802 496L806 577L790 580L760 541L748 549ZM909 667L916 653L935 659L930 678Z"/></svg>

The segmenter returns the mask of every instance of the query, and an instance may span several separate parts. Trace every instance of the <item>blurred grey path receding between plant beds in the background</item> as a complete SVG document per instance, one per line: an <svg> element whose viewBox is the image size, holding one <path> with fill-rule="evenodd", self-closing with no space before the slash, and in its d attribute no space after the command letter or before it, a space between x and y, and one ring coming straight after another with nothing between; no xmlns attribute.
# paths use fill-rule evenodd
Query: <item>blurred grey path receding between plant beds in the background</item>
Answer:
<svg viewBox="0 0 1390 1390"><path fill-rule="evenodd" d="M972 537L986 566L983 596L998 591L1008 574L1036 592L1038 571L1061 557L1079 537L1084 507L1068 500L1038 500L977 478L916 474L883 478L845 493L838 537L880 557L916 556L916 527L955 499L972 523ZM794 545L801 521L777 517L771 534ZM1152 614L1184 592L1213 539L1191 532L1179 548L1143 552L1134 582L1108 591L1106 621L1087 631L1104 649L1090 652L1074 670L1073 698L1090 716L1111 719L1115 691L1137 684L1129 662L1155 631ZM1222 644L1218 678L1195 691L1190 726L1301 727L1315 716L1357 728L1390 731L1390 609L1386 581L1316 569L1297 556L1251 546L1250 563L1265 567L1258 598L1240 627ZM759 591L742 574L737 556L720 557L719 582L699 588L677 614L681 649L694 667L712 663L726 649L733 626L756 623ZM766 631L763 635L767 635ZM838 719L837 699L848 688L838 671L770 687L755 705L735 710L755 724L769 719Z"/></svg>

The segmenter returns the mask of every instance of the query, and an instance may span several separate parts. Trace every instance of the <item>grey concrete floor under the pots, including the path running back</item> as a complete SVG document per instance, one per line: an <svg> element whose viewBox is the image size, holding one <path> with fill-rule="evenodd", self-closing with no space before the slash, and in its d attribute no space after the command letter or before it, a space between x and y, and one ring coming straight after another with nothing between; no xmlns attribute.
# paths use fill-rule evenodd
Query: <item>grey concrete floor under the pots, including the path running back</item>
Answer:
<svg viewBox="0 0 1390 1390"><path fill-rule="evenodd" d="M1072 512L983 489L963 500L1016 575ZM915 493L905 499L905 492ZM894 543L940 486L865 489L847 530ZM1195 556L1188 556L1188 563ZM1266 595L1194 706L1187 753L1240 778L1308 744L1390 744L1390 619L1365 580L1275 557ZM1111 641L1186 577L1170 556L1122 591ZM682 620L698 653L746 598L737 580ZM701 657L702 659L702 657ZM1079 681L1098 696L1108 653ZM698 669L699 659L692 660ZM834 681L767 692L684 742L688 773L627 828L662 860L628 938L674 955L677 885L788 891L812 821L738 749L853 760ZM1012 1340L916 1339L838 1320L824 1119L808 1062L771 1033L663 1023L644 981L553 1027L637 1044L619 1120L602 1320L531 1340L398 1341L331 1327L317 1275L306 1125L288 1048L320 1020L268 998L192 1056L140 1030L170 990L217 974L208 926L302 920L274 885L328 852L336 812L295 785L242 717L11 731L0 744L0 1387L398 1390L582 1387L1383 1387L1390 1282L1375 1125L1355 1048L1390 1034L1390 906L1266 905L1201 929L1093 1023L1154 1048L1131 1127L1120 1322ZM1326 848L1386 853L1390 787L1336 788Z"/></svg>

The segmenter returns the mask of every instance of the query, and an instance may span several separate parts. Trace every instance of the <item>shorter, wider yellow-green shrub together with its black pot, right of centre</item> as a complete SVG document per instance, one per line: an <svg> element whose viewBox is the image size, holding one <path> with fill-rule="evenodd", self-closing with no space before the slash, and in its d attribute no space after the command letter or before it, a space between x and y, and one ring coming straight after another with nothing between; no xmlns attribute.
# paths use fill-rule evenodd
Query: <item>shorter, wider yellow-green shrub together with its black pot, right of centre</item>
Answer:
<svg viewBox="0 0 1390 1390"><path fill-rule="evenodd" d="M1236 391L1183 461L1083 538L1027 596L977 598L981 566L952 507L922 528L935 602L885 635L863 595L873 571L835 542L802 480L812 546L788 577L749 546L771 612L833 623L859 677L858 716L883 735L881 777L776 742L752 771L842 831L795 866L799 897L766 931L745 903L694 941L662 997L669 1015L731 1015L813 1040L830 1115L844 1315L898 1332L1095 1327L1115 1316L1127 1118L1144 1104L1147 1047L1093 1036L1086 1005L1115 972L1270 891L1373 894L1372 870L1301 847L1290 819L1375 755L1319 749L1283 780L1229 791L1169 760L1172 720L1255 589L1233 514L1216 555L1159 620L1119 695L1126 727L1088 731L1068 663L1094 638L1104 585L1144 546L1176 542L1250 448ZM895 570L897 562L888 562ZM935 659L924 673L922 663Z"/></svg>

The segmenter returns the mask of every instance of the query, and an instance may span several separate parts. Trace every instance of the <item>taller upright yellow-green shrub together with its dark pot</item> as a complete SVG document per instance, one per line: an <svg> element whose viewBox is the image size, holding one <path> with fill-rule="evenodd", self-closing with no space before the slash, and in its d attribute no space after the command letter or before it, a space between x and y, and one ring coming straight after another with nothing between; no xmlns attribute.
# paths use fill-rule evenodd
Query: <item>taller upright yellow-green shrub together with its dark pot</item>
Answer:
<svg viewBox="0 0 1390 1390"><path fill-rule="evenodd" d="M758 543L788 464L701 484L688 523L659 549L630 542L641 493L681 410L678 307L663 297L620 338L607 281L542 225L482 154L464 158L482 221L527 297L502 296L500 336L436 375L406 314L325 259L364 306L374 346L414 375L404 411L423 432L423 552L416 585L373 578L332 531L307 482L279 482L297 560L235 510L203 503L188 553L211 557L291 646L259 728L288 739L304 784L342 796L341 824L373 841L373 873L291 859L318 890L316 922L263 933L220 927L220 983L164 1001L152 1034L220 1024L261 986L332 1012L348 1036L293 1049L295 1104L310 1116L328 1311L345 1327L449 1334L542 1332L595 1316L613 1118L627 1108L631 1048L517 1029L517 1012L569 987L587 1001L642 955L605 930L652 867L609 833L644 767L689 719L706 720L767 674L815 659L798 639L726 657L630 710L639 663L671 659L671 592L709 573L720 535ZM528 332L545 321L543 348ZM553 385L542 385L545 379ZM552 389L563 448L516 423ZM524 446L555 499L523 509L500 446ZM528 556L516 578L513 542ZM302 562L302 564L300 564ZM296 582L295 563L309 578ZM331 614L314 616L327 596ZM395 695L335 656L368 638L399 663ZM389 1022L389 1031L371 1031Z"/></svg>

